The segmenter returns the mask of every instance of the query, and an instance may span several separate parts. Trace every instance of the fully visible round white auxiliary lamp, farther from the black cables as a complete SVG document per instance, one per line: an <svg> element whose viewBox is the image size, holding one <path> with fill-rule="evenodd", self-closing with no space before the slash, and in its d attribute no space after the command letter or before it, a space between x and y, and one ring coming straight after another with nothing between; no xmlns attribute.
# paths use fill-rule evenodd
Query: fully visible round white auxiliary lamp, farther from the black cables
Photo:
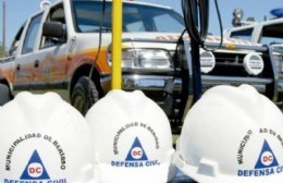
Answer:
<svg viewBox="0 0 283 183"><path fill-rule="evenodd" d="M263 71L264 63L258 53L248 53L244 58L244 68L251 75L258 75Z"/></svg>

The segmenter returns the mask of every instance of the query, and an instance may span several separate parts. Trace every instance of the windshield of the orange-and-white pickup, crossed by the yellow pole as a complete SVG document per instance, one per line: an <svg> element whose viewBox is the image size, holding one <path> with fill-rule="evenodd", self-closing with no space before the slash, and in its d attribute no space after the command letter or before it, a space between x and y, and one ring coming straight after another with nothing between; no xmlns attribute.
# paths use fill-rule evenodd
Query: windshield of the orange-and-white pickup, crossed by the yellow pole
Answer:
<svg viewBox="0 0 283 183"><path fill-rule="evenodd" d="M111 2L107 2L103 32L111 32ZM72 1L73 21L78 33L99 32L102 1ZM171 9L138 3L123 3L123 32L170 32L184 29L183 17Z"/></svg>

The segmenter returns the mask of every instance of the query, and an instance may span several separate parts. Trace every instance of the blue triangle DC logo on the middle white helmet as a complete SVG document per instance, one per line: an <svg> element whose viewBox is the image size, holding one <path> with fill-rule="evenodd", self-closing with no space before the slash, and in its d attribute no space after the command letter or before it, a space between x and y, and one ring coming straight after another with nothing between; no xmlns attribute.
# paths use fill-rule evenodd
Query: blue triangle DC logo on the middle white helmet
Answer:
<svg viewBox="0 0 283 183"><path fill-rule="evenodd" d="M139 142L139 139L136 137L131 149L128 150L128 154L126 156L126 161L147 161L147 155Z"/></svg>

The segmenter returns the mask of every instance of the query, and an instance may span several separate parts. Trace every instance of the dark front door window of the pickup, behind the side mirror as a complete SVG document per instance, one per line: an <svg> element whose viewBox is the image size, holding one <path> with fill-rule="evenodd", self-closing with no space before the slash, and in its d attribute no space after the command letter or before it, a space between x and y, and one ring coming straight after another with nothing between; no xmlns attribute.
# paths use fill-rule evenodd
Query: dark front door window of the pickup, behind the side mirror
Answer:
<svg viewBox="0 0 283 183"><path fill-rule="evenodd" d="M66 36L65 14L64 14L63 4L59 4L59 5L50 9L46 22L60 22L60 23L62 23L64 30L65 30L65 36ZM53 47L58 44L59 44L59 41L56 40L54 38L41 36L40 48Z"/></svg>

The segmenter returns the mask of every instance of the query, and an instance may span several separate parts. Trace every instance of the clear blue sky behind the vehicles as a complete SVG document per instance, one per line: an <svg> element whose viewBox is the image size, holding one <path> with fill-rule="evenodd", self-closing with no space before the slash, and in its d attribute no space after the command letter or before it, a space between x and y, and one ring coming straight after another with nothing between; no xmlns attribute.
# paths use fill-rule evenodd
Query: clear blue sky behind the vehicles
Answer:
<svg viewBox="0 0 283 183"><path fill-rule="evenodd" d="M2 42L2 1L0 11L0 42ZM54 2L56 0L50 0ZM181 0L135 0L151 2L158 4L170 5L182 14ZM7 29L5 45L9 48L13 37L17 33L20 26L25 20L39 10L41 0L5 0L7 11ZM210 22L209 32L213 35L220 35L219 21L217 19L214 0L210 2ZM275 8L283 8L283 0L218 0L223 28L232 27L233 11L235 8L241 8L244 11L244 20L255 17L256 21L263 21L264 16L271 19L270 11Z"/></svg>

